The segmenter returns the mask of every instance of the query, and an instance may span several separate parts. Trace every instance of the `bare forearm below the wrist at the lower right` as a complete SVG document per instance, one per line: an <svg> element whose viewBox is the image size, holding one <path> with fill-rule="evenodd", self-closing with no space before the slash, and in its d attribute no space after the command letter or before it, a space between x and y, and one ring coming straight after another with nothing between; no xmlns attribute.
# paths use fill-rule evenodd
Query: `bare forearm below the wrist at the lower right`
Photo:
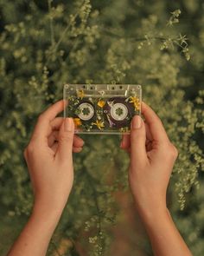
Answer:
<svg viewBox="0 0 204 256"><path fill-rule="evenodd" d="M192 256L166 207L140 215L156 256Z"/></svg>

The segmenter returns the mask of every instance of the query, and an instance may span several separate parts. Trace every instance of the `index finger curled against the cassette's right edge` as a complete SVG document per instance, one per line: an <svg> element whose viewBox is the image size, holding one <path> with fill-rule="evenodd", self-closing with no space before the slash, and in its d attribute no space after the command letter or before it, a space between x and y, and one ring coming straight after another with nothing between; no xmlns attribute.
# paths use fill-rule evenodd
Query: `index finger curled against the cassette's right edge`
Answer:
<svg viewBox="0 0 204 256"><path fill-rule="evenodd" d="M169 137L163 127L163 122L156 115L155 111L144 102L142 102L142 114L150 128L152 139L158 142L169 141Z"/></svg>

